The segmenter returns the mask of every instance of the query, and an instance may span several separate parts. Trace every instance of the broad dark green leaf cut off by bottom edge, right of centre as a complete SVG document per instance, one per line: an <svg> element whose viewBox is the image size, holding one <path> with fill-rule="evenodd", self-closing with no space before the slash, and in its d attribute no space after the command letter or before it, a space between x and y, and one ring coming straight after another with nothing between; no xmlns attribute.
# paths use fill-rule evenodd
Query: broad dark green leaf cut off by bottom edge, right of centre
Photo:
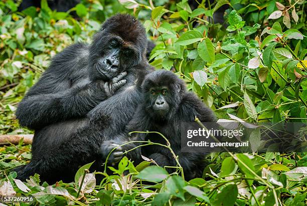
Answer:
<svg viewBox="0 0 307 206"><path fill-rule="evenodd" d="M223 205L223 206L233 206L237 200L238 196L238 187L236 184L226 185L220 193L215 197L215 200L212 201L212 205Z"/></svg>

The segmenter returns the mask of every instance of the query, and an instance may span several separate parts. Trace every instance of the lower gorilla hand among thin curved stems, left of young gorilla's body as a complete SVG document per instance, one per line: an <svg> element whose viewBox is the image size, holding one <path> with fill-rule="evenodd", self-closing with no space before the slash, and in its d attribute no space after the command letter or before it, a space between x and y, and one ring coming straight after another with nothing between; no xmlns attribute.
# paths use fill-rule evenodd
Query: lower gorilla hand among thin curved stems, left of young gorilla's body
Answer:
<svg viewBox="0 0 307 206"><path fill-rule="evenodd" d="M106 141L100 146L100 154L102 154L103 159L106 159L108 154L115 147L117 147L108 158L108 162L111 163L111 165L114 165L115 163L119 162L122 158L122 148L118 146L118 144L115 144L112 141Z"/></svg>

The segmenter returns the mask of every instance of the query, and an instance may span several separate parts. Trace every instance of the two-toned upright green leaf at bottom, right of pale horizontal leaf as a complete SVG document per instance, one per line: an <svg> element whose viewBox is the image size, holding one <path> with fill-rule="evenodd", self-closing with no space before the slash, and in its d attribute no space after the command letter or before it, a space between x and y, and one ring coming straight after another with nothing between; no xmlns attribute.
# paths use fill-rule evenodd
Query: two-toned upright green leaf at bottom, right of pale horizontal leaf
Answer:
<svg viewBox="0 0 307 206"><path fill-rule="evenodd" d="M185 186L185 181L181 176L169 177L166 182L166 186L171 194L185 200L185 191L183 189Z"/></svg>

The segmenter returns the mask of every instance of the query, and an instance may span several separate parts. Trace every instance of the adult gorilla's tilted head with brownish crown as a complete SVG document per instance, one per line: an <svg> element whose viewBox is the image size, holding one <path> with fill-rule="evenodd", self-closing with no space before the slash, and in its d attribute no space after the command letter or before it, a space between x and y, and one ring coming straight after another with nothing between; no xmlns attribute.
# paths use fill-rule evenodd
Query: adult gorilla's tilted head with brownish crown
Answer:
<svg viewBox="0 0 307 206"><path fill-rule="evenodd" d="M109 80L145 59L147 39L142 24L128 14L115 15L94 35L89 66L92 79Z"/></svg>

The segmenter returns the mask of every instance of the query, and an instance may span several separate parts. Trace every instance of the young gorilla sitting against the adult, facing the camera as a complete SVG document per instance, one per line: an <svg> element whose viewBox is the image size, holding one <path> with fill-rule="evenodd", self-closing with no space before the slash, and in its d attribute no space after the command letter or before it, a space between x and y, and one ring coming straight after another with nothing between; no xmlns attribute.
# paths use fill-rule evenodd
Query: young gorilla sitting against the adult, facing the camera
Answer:
<svg viewBox="0 0 307 206"><path fill-rule="evenodd" d="M166 145L165 139L159 134L133 133L127 141L127 133L132 131L151 131L162 133L171 143L179 162L184 169L186 179L202 176L206 166L205 153L191 151L181 152L182 124L194 122L198 117L201 122L216 122L213 112L205 107L201 99L193 92L187 91L185 82L176 74L166 70L157 70L146 76L142 83L143 102L138 106L132 120L126 127L126 134L121 135L114 144L129 141L150 141ZM110 144L109 144L110 146ZM118 147L113 152L113 163L120 160L123 151L136 147L129 143ZM105 145L102 145L105 149ZM168 148L159 145L149 145L128 152L126 155L134 162L141 160L140 154L153 159L159 166L176 166L176 161ZM111 148L110 148L111 149ZM110 151L110 150L109 150ZM169 172L173 172L169 169Z"/></svg>

